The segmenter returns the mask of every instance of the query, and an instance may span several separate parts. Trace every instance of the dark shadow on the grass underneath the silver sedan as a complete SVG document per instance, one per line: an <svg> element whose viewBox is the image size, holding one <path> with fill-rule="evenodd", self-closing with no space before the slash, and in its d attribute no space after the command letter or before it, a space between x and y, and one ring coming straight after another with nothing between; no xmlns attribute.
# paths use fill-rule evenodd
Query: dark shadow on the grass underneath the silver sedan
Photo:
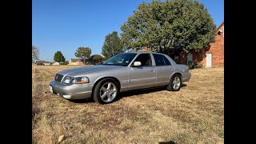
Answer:
<svg viewBox="0 0 256 144"><path fill-rule="evenodd" d="M181 85L181 88L186 86L186 84ZM148 88L148 89L142 89L142 90L130 90L130 91L125 91L122 92L118 95L118 98L116 98L116 101L119 101L122 98L125 97L130 97L130 96L136 96L136 95L140 95L140 94L150 94L153 92L158 92L158 91L162 91L162 90L166 90L166 86L161 86L161 87L154 87L154 88ZM86 98L86 99L67 99L70 102L74 102L74 103L91 103L94 102L93 98Z"/></svg>

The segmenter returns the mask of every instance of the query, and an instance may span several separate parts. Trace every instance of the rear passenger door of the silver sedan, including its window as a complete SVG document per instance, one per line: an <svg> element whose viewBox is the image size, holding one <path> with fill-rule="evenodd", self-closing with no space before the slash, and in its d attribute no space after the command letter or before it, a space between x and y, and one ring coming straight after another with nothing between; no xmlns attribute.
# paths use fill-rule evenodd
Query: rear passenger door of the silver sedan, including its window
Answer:
<svg viewBox="0 0 256 144"><path fill-rule="evenodd" d="M153 54L156 69L156 86L167 85L170 81L170 75L174 73L174 66L163 54Z"/></svg>

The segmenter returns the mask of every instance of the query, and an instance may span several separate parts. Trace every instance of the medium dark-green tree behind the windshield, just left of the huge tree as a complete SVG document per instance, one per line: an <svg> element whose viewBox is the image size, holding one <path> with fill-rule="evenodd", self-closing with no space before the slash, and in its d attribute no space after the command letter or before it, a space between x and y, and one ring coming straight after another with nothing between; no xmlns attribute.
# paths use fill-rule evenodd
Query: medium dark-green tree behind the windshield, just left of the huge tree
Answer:
<svg viewBox="0 0 256 144"><path fill-rule="evenodd" d="M105 37L102 55L108 59L119 53L122 53L122 41L118 37L118 32L113 31L112 34L107 34Z"/></svg>

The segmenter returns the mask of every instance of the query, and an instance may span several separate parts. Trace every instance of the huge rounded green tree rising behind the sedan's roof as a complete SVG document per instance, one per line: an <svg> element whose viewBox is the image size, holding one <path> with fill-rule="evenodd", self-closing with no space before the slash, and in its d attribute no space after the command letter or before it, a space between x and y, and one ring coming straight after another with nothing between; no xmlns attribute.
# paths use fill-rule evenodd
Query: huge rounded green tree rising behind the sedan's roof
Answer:
<svg viewBox="0 0 256 144"><path fill-rule="evenodd" d="M166 53L202 50L214 42L216 26L205 6L197 0L142 2L122 27L124 48L149 46Z"/></svg>

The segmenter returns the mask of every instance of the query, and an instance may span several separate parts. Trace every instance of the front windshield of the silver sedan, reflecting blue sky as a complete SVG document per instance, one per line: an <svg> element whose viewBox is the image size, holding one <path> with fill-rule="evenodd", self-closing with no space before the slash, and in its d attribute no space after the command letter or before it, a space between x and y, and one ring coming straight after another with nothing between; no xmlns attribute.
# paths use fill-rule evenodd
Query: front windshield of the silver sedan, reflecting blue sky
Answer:
<svg viewBox="0 0 256 144"><path fill-rule="evenodd" d="M136 55L133 53L117 54L106 62L103 62L102 65L128 66Z"/></svg>

